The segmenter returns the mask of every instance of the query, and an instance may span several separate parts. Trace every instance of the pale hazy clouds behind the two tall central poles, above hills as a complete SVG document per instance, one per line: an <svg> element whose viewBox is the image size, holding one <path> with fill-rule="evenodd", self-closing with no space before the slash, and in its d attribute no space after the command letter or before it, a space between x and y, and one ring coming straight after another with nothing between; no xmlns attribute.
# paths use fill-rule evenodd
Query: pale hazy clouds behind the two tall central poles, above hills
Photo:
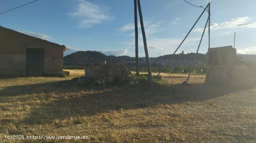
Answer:
<svg viewBox="0 0 256 143"><path fill-rule="evenodd" d="M173 21L173 24L179 24L179 18ZM162 27L164 21L154 23L153 20L145 20L145 32L147 37L147 45L148 45L148 53L151 56L156 56L159 53L172 54L174 50L178 47L178 45L182 42L181 38L168 38L168 37L157 37L155 33L159 31L163 31ZM138 24L140 25L140 24ZM123 27L117 29L119 32L125 33L128 36L132 36L133 38L129 41L122 42L121 44L125 45L129 50L134 51L135 48L135 33L134 33L134 24L130 23L124 25ZM144 54L144 45L143 39L141 36L141 28L139 29L139 54ZM195 46L199 43L200 37L190 37L186 40L186 42L182 45L182 48L191 48L191 46ZM177 51L180 52L180 51ZM188 51L187 51L188 52ZM156 54L157 53L157 54ZM134 56L134 52L130 55Z"/></svg>

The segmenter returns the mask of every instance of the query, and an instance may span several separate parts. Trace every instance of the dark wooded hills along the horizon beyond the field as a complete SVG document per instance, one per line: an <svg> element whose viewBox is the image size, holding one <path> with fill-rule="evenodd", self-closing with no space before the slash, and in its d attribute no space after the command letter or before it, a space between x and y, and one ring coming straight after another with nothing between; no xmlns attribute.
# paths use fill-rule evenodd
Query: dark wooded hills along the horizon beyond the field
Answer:
<svg viewBox="0 0 256 143"><path fill-rule="evenodd" d="M177 54L174 55L170 62L171 55L151 57L150 62L152 67L179 67L190 66L195 53ZM135 66L135 57L130 56L106 56L98 51L78 51L70 55L64 56L64 66L86 66L89 63L124 63L127 66ZM146 66L145 57L139 58L140 66ZM198 54L196 59L196 66L205 65L205 54Z"/></svg>

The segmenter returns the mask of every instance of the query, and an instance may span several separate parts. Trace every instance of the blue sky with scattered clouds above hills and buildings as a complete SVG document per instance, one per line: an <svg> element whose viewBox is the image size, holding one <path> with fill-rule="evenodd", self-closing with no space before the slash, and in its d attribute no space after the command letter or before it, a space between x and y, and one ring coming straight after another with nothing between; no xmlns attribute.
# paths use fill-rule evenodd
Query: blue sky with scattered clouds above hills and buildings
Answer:
<svg viewBox="0 0 256 143"><path fill-rule="evenodd" d="M32 0L0 0L0 12ZM238 54L256 54L256 0L187 0L211 3L210 47L236 45ZM172 54L202 8L183 0L141 0L150 57ZM208 13L205 12L177 53L196 52ZM0 25L64 44L64 55L97 50L106 55L135 56L134 0L38 0L0 14ZM139 16L138 16L139 21ZM139 23L140 25L140 23ZM208 30L199 53L208 50ZM139 56L145 56L139 26Z"/></svg>

